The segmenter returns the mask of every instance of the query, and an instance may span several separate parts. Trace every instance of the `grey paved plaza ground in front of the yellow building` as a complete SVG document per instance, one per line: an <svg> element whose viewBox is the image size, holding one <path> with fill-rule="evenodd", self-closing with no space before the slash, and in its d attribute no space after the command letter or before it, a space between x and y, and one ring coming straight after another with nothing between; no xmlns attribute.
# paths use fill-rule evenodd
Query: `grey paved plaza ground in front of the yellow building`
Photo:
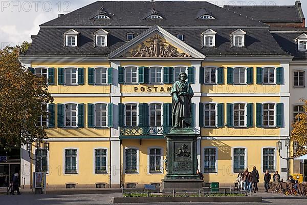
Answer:
<svg viewBox="0 0 307 205"><path fill-rule="evenodd" d="M298 196L285 196L279 194L268 194L268 193L257 193L253 194L254 196L262 196L262 203L213 203L213 202L189 202L189 203L143 203L150 205L160 205L160 204L191 204L191 205L201 205L201 204L237 204L237 205L259 205L259 204L271 204L271 205L289 205L289 204L307 204L307 197L298 197ZM30 193L24 193L21 195L0 195L0 204L1 205L98 205L98 204L111 204L112 197L120 197L121 193L93 193L93 194L58 194L58 193L47 193L41 195L33 195ZM130 205L136 205L129 203Z"/></svg>

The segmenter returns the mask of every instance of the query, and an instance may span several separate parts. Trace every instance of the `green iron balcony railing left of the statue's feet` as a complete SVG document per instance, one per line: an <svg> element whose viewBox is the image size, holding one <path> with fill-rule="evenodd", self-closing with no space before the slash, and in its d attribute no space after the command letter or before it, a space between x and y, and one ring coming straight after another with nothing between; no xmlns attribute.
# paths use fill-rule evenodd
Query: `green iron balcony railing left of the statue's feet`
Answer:
<svg viewBox="0 0 307 205"><path fill-rule="evenodd" d="M120 136L157 136L170 133L171 126L123 126Z"/></svg>

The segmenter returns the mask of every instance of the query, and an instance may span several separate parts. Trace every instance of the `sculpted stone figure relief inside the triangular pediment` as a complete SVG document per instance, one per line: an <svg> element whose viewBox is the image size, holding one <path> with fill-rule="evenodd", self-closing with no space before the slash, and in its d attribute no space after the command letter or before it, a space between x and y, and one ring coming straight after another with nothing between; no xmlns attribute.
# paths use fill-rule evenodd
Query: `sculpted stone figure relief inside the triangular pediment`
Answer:
<svg viewBox="0 0 307 205"><path fill-rule="evenodd" d="M155 35L142 42L123 57L191 57L165 41L161 36Z"/></svg>

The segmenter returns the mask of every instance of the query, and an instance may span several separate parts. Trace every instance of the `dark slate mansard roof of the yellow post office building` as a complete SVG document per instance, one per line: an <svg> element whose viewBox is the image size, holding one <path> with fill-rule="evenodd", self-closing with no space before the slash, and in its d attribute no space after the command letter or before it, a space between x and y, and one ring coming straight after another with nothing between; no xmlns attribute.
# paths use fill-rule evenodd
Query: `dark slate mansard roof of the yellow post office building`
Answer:
<svg viewBox="0 0 307 205"><path fill-rule="evenodd" d="M152 6L149 1L95 2L87 5L42 24L25 55L106 57L127 43L127 33L134 33L136 37L158 25L174 36L184 34L184 43L205 56L289 56L280 48L265 24L224 8L207 2L155 2L155 9L164 19L144 19ZM111 19L93 19L101 7L114 14ZM203 12L216 19L197 19ZM109 33L107 47L95 47L94 32L100 28ZM203 46L202 33L208 28L217 32L213 48ZM238 28L246 32L245 47L232 47L231 33ZM65 47L64 33L69 29L79 32L78 47Z"/></svg>

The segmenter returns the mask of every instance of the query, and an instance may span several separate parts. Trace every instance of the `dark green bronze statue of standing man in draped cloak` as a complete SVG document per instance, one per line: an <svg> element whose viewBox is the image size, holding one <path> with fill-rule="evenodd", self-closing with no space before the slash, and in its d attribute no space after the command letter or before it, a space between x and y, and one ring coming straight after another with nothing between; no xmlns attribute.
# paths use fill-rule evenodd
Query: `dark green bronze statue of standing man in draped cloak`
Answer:
<svg viewBox="0 0 307 205"><path fill-rule="evenodd" d="M178 75L170 91L172 95L172 125L174 128L191 127L191 100L194 95L185 72Z"/></svg>

